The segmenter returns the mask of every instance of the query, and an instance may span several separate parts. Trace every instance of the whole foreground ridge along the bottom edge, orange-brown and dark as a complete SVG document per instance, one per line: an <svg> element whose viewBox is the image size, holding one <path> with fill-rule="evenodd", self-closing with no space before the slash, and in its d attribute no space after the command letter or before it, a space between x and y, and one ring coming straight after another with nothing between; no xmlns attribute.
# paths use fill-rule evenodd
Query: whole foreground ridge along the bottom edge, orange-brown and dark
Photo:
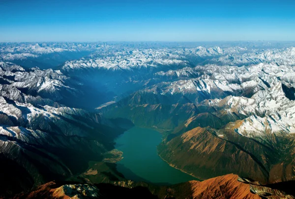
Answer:
<svg viewBox="0 0 295 199"><path fill-rule="evenodd" d="M71 183L71 184L69 184ZM292 185L291 183L289 185ZM274 184L274 187L277 185ZM152 194L151 194L152 193ZM189 181L173 186L155 186L128 181L111 184L73 184L73 182L49 182L29 194L15 199L70 197L85 198L129 198L129 199L294 199L292 195L274 188L262 186L234 174L218 176L202 182Z"/></svg>

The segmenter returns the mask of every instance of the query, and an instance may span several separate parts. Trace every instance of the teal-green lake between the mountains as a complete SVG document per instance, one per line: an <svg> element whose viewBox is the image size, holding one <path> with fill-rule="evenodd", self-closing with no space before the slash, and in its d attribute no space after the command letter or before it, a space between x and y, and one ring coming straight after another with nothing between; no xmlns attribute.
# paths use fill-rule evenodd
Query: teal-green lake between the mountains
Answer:
<svg viewBox="0 0 295 199"><path fill-rule="evenodd" d="M125 178L157 184L177 184L196 180L191 175L169 166L157 154L161 142L157 131L133 127L116 139L116 149L123 152L117 169Z"/></svg>

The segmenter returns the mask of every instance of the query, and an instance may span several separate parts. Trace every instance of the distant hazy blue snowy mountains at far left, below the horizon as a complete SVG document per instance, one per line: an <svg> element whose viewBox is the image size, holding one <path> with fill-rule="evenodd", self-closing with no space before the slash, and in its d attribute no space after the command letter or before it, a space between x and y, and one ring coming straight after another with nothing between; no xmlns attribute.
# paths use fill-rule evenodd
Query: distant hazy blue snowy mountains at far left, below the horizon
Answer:
<svg viewBox="0 0 295 199"><path fill-rule="evenodd" d="M0 44L0 61L25 68L56 68L66 60L87 56L100 46L95 43L4 43Z"/></svg>

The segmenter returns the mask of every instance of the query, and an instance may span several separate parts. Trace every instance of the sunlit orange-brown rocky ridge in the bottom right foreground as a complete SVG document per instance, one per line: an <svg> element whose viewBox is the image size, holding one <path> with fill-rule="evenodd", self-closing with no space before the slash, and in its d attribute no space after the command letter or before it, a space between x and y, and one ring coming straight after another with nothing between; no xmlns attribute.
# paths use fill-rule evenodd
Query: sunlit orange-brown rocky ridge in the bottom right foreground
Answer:
<svg viewBox="0 0 295 199"><path fill-rule="evenodd" d="M274 185L275 187L276 185ZM292 183L287 186L293 186ZM154 191L151 189L151 191ZM160 199L294 199L293 195L261 185L260 182L227 174L200 181L162 187Z"/></svg>

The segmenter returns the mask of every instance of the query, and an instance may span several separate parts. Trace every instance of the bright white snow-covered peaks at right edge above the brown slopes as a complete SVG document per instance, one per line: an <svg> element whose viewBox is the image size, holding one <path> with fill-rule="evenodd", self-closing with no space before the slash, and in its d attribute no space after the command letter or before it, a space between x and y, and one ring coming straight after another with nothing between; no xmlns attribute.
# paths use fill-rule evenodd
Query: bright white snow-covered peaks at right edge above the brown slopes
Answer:
<svg viewBox="0 0 295 199"><path fill-rule="evenodd" d="M229 96L210 100L208 105L226 114L244 115L246 118L237 121L239 126L236 127L236 132L243 136L259 138L267 136L266 133L292 134L295 132L295 101L287 97L289 89L294 87L277 83L251 98Z"/></svg>

